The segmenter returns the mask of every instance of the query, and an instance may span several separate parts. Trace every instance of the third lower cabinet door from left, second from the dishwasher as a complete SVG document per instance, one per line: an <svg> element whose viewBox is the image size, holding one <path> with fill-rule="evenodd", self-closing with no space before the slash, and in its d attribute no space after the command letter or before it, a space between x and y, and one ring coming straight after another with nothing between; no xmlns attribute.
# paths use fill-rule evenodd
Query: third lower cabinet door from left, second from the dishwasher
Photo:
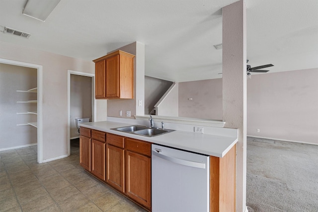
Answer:
<svg viewBox="0 0 318 212"><path fill-rule="evenodd" d="M124 193L124 149L106 144L106 150L106 182L113 188Z"/></svg>

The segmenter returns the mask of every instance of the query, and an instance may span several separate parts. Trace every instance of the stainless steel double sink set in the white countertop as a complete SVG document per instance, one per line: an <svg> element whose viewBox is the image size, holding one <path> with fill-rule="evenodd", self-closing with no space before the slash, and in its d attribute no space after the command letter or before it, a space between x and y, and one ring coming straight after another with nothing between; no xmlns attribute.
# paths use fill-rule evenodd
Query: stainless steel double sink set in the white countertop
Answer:
<svg viewBox="0 0 318 212"><path fill-rule="evenodd" d="M128 132L128 133L133 133L137 135L148 136L148 137L162 135L162 134L174 131L172 129L160 129L156 127L142 126L142 125L123 126L123 127L117 127L117 128L111 128L111 129L121 131L121 132Z"/></svg>

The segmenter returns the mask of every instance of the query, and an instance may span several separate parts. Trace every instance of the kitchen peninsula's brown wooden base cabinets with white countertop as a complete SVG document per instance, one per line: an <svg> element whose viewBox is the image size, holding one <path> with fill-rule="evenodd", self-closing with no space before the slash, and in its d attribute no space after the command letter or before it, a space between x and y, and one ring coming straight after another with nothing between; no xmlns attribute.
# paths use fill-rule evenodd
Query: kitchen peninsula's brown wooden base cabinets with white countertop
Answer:
<svg viewBox="0 0 318 212"><path fill-rule="evenodd" d="M79 124L80 164L87 172L152 211L151 144L210 155L210 212L235 211L236 129L175 130L153 137L112 129L134 125L127 122Z"/></svg>

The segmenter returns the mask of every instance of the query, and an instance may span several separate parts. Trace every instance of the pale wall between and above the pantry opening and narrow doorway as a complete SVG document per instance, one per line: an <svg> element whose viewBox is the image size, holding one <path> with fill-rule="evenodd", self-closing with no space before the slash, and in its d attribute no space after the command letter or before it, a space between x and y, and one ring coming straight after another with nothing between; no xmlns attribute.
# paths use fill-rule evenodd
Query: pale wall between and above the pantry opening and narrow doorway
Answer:
<svg viewBox="0 0 318 212"><path fill-rule="evenodd" d="M2 41L0 49L0 58L43 66L43 160L66 156L68 70L94 74L94 63ZM98 106L97 117L106 108Z"/></svg>

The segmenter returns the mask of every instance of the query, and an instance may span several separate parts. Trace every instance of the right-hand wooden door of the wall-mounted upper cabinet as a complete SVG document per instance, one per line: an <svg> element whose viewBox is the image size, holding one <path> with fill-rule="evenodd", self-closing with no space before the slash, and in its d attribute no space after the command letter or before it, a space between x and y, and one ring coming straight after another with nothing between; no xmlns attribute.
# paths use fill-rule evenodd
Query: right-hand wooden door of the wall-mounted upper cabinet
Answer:
<svg viewBox="0 0 318 212"><path fill-rule="evenodd" d="M119 55L106 59L106 98L119 98Z"/></svg>

